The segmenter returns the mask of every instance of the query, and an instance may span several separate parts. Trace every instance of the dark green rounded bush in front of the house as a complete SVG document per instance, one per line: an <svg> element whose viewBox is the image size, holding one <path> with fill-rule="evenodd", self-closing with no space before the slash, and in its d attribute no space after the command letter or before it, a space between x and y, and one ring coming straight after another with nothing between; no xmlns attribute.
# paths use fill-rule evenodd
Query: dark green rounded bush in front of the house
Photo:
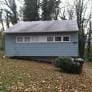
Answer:
<svg viewBox="0 0 92 92"><path fill-rule="evenodd" d="M80 63L72 61L69 57L59 57L55 60L55 66L67 73L80 73Z"/></svg>

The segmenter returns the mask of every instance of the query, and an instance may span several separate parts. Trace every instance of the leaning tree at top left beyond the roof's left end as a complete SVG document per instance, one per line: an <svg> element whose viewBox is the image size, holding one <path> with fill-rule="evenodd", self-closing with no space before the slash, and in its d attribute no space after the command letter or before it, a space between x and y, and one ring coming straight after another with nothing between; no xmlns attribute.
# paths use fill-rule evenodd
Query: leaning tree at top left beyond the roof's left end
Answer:
<svg viewBox="0 0 92 92"><path fill-rule="evenodd" d="M2 10L6 19L7 27L11 22L13 25L18 22L17 7L15 0L0 0Z"/></svg>

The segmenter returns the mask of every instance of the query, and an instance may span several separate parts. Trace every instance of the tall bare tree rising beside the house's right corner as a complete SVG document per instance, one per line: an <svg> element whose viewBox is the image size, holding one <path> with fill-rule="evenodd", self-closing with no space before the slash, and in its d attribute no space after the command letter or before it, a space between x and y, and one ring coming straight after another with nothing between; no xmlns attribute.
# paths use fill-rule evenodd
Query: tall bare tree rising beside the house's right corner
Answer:
<svg viewBox="0 0 92 92"><path fill-rule="evenodd" d="M73 4L69 3L65 6L67 8L64 15L67 19L76 19L78 28L79 28L79 56L84 57L85 53L85 43L86 43L86 31L87 25L90 20L90 13L88 12L91 9L88 5L90 0L74 0ZM92 10L91 10L92 11ZM86 30L85 30L86 28Z"/></svg>

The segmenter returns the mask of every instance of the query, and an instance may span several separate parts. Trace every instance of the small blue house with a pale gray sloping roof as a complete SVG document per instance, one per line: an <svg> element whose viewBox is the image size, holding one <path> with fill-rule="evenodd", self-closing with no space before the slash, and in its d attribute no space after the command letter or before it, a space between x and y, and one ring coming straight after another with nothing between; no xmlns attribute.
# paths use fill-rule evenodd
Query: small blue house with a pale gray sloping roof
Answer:
<svg viewBox="0 0 92 92"><path fill-rule="evenodd" d="M5 55L78 56L75 20L21 22L5 32Z"/></svg>

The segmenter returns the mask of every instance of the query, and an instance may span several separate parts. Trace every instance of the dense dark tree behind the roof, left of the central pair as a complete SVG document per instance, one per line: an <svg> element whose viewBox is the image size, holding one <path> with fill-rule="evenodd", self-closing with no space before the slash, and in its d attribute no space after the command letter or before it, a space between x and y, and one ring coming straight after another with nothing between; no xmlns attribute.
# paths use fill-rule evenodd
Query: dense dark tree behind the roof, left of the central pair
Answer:
<svg viewBox="0 0 92 92"><path fill-rule="evenodd" d="M37 21L39 20L39 0L24 0L24 21Z"/></svg>

